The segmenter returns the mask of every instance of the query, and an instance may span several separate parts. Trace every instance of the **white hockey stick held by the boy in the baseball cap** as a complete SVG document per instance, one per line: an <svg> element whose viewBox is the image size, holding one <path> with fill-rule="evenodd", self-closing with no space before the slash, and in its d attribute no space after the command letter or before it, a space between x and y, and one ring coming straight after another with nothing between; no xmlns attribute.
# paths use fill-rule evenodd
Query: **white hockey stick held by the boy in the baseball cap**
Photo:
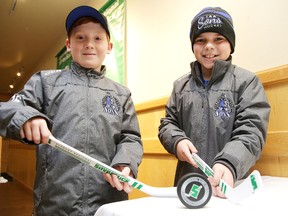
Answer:
<svg viewBox="0 0 288 216"><path fill-rule="evenodd" d="M83 152L61 142L60 140L57 140L55 137L50 136L48 145L58 149L59 151L75 158L76 160L87 164L94 169L101 171L102 173L109 173L114 174L117 176L117 178L122 182L127 182L131 187L136 188L150 196L153 197L178 197L177 196L177 188L176 187L152 187L149 185L146 185L130 176L123 176L123 174L114 169L113 167L110 167L95 158L92 158L91 156L84 154Z"/></svg>

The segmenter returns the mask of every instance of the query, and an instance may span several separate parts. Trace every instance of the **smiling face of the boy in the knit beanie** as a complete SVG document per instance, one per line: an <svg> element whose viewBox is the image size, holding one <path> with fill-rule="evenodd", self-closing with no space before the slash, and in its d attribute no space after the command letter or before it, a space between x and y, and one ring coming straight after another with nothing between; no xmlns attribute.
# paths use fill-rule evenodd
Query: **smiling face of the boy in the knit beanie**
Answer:
<svg viewBox="0 0 288 216"><path fill-rule="evenodd" d="M202 72L212 72L215 60L225 61L229 58L231 46L223 35L205 32L195 39L193 51Z"/></svg>

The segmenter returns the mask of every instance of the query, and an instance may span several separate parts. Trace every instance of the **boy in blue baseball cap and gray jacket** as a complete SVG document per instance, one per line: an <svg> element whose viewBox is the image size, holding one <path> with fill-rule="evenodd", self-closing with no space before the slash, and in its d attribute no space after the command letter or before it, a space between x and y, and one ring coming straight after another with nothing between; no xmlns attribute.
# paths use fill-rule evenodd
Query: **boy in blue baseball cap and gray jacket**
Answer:
<svg viewBox="0 0 288 216"><path fill-rule="evenodd" d="M112 49L107 19L80 6L67 16L70 69L34 74L0 105L0 134L37 145L37 215L94 215L105 203L127 200L131 188L51 148L51 134L72 147L137 177L143 149L130 91L105 77Z"/></svg>

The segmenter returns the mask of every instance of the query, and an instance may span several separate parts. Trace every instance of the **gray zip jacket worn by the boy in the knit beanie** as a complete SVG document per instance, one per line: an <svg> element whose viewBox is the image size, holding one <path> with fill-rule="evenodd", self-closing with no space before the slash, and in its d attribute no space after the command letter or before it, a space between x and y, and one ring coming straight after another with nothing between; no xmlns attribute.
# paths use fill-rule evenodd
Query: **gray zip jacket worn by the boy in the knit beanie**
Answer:
<svg viewBox="0 0 288 216"><path fill-rule="evenodd" d="M222 163L238 180L260 157L266 141L270 105L258 77L247 70L216 61L207 86L202 82L200 64L174 82L161 119L159 139L176 155L180 140L189 139L208 165ZM175 185L190 172L200 172L178 161Z"/></svg>

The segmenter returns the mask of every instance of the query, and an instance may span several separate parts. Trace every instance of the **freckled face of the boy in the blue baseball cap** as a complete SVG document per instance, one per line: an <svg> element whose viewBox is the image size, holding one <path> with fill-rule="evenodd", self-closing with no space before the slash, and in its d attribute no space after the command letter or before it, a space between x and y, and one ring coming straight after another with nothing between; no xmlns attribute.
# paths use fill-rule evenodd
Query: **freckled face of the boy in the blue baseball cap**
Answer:
<svg viewBox="0 0 288 216"><path fill-rule="evenodd" d="M82 67L100 71L106 54L112 50L112 43L101 24L88 22L72 29L66 48Z"/></svg>

